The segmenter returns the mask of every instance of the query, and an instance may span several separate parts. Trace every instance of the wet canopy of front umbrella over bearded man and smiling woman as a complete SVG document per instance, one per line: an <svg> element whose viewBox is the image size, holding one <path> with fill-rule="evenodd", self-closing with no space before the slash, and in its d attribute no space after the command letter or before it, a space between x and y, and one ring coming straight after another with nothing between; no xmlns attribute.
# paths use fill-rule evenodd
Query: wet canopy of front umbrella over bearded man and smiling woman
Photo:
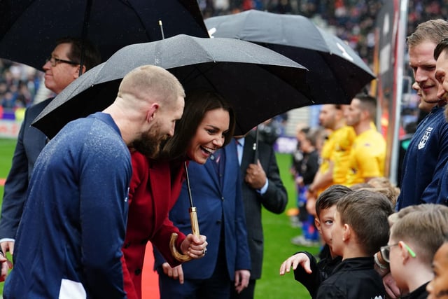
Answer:
<svg viewBox="0 0 448 299"><path fill-rule="evenodd" d="M51 138L70 120L102 111L116 98L121 79L145 64L168 69L187 92L204 88L228 99L237 113L235 134L311 104L302 94L306 69L297 62L255 43L180 34L118 50L67 86L33 125Z"/></svg>

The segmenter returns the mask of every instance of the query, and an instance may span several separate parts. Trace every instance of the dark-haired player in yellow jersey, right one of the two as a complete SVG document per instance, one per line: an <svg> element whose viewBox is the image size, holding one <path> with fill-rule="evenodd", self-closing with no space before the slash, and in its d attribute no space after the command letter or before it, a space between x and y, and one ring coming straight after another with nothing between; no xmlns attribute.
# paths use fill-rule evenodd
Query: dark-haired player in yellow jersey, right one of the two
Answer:
<svg viewBox="0 0 448 299"><path fill-rule="evenodd" d="M347 125L351 125L356 132L349 158L349 172L344 183L346 186L384 176L386 141L372 127L376 110L377 100L374 97L358 94L344 114Z"/></svg>

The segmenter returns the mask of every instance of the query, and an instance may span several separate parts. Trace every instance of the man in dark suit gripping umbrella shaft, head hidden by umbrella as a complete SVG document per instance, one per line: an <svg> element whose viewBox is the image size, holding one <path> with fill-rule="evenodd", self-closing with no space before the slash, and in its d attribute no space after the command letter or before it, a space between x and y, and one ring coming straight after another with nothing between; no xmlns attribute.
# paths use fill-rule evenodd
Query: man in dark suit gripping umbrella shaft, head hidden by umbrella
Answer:
<svg viewBox="0 0 448 299"><path fill-rule="evenodd" d="M240 293L232 291L231 298L249 299L253 298L256 279L261 278L264 246L261 207L281 214L288 203L288 194L280 178L274 148L263 141L256 144L253 131L246 137L236 137L236 140L241 177L244 178L241 190L252 271L248 287ZM258 156L257 161L255 155Z"/></svg>

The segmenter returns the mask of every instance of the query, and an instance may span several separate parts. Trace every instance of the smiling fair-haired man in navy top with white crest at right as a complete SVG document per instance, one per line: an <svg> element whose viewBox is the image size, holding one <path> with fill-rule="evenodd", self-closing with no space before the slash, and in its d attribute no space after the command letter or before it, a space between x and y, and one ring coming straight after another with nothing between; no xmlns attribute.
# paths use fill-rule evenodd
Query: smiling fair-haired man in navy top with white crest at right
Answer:
<svg viewBox="0 0 448 299"><path fill-rule="evenodd" d="M437 202L440 177L448 162L448 124L444 119L446 99L437 96L434 49L448 37L448 22L429 20L407 37L409 65L421 90L421 99L435 104L419 123L402 164L400 195L396 209Z"/></svg>

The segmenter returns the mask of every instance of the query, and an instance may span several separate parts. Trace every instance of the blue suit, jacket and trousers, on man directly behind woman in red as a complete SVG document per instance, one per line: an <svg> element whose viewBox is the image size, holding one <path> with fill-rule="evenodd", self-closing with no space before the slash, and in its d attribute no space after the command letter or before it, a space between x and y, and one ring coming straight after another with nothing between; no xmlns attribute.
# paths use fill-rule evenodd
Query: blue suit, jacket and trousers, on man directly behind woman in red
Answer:
<svg viewBox="0 0 448 299"><path fill-rule="evenodd" d="M161 265L165 260L156 253L160 298L187 298L188 295L191 295L188 298L195 298L192 295L194 293L209 294L209 298L228 298L235 271L251 269L235 141L232 140L222 151L225 152L225 166L221 178L214 160L207 160L205 165L196 162L188 165L200 233L207 236L207 254L203 258L183 263L185 283L179 284L179 280L163 273ZM181 195L169 213L169 219L184 234L191 232L189 207L190 200L184 183ZM225 291L222 291L224 285L228 293L226 296ZM210 293L204 291L205 288Z"/></svg>

